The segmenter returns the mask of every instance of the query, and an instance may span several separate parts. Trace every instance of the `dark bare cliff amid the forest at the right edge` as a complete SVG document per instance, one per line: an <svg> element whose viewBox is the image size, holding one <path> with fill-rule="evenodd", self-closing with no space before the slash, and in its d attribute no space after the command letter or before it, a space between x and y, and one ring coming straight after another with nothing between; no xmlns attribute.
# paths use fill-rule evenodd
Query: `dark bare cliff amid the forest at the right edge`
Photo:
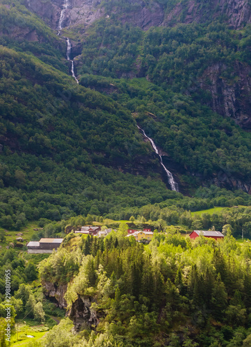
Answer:
<svg viewBox="0 0 251 347"><path fill-rule="evenodd" d="M227 67L218 62L208 67L199 79L200 87L211 93L209 106L214 112L232 117L245 130L251 129L250 76L248 65L235 62L232 71L227 71Z"/></svg>

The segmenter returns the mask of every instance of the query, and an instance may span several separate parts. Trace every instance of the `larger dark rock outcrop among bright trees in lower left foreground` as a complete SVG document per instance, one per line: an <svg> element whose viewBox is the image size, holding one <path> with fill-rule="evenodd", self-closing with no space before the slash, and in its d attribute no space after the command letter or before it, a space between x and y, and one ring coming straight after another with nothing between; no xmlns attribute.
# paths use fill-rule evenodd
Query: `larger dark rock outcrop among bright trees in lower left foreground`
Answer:
<svg viewBox="0 0 251 347"><path fill-rule="evenodd" d="M87 326L94 328L98 325L99 320L96 311L92 309L92 303L92 298L80 296L71 306L69 318L73 320L76 330Z"/></svg>

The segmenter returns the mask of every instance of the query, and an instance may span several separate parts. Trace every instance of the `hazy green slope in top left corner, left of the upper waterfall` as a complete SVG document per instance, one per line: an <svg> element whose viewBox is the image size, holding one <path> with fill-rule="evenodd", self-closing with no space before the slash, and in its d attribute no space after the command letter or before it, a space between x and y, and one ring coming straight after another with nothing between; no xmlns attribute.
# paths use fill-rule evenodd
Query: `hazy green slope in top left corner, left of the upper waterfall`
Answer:
<svg viewBox="0 0 251 347"><path fill-rule="evenodd" d="M1 45L39 56L46 64L68 73L64 40L18 1L0 3L0 32Z"/></svg>

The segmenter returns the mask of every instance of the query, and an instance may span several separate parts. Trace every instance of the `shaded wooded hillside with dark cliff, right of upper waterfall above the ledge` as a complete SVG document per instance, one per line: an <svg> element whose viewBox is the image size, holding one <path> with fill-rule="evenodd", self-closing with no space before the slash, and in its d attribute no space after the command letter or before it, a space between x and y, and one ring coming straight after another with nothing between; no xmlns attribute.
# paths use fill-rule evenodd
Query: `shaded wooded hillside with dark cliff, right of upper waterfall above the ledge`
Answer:
<svg viewBox="0 0 251 347"><path fill-rule="evenodd" d="M144 33L105 19L90 29L76 60L78 74L146 77L232 117L246 130L251 127L250 61L250 27L240 33L216 22Z"/></svg>

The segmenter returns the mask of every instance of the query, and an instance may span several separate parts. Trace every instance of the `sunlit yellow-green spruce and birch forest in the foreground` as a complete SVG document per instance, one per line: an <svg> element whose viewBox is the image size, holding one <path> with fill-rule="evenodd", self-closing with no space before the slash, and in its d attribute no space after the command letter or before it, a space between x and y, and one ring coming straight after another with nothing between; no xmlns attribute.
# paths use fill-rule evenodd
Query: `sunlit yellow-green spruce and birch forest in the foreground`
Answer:
<svg viewBox="0 0 251 347"><path fill-rule="evenodd" d="M69 308L79 296L92 298L98 328L72 335L67 319L44 346L52 338L59 346L64 332L72 346L248 346L250 243L237 244L231 235L191 243L157 233L144 248L133 237L111 235L94 238L89 248L84 243L82 252L62 248L40 263L40 276L57 286L70 282Z"/></svg>

